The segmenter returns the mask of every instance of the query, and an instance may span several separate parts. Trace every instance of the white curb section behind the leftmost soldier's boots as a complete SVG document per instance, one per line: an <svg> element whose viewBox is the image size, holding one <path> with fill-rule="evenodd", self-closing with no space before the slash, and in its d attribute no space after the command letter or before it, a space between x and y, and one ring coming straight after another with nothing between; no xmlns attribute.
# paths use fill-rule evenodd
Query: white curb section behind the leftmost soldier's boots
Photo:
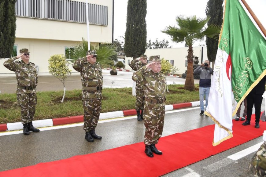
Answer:
<svg viewBox="0 0 266 177"><path fill-rule="evenodd" d="M32 121L32 125L34 127L50 127L53 126L53 120L52 119L44 119L39 121ZM7 130L21 130L23 129L23 125L21 122L15 122L15 123L7 123Z"/></svg>

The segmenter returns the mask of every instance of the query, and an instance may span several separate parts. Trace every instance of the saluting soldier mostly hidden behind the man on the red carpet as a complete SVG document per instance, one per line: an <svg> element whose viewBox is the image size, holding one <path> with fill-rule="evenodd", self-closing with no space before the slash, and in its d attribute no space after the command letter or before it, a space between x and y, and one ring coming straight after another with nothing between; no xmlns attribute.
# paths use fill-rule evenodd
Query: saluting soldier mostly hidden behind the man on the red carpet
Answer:
<svg viewBox="0 0 266 177"><path fill-rule="evenodd" d="M129 63L129 66L134 70L139 70L141 67L147 64L147 55L142 55L139 60L132 60ZM144 93L142 88L142 83L136 82L136 103L135 103L136 111L137 111L137 119L138 121L142 121L143 119L143 108L144 108ZM141 114L140 114L141 110Z"/></svg>

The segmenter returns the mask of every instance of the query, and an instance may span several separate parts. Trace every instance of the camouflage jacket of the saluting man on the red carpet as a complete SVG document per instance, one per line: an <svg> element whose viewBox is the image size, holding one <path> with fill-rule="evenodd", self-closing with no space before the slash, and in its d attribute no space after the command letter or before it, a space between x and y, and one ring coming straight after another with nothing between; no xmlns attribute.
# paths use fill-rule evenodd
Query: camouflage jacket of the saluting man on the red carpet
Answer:
<svg viewBox="0 0 266 177"><path fill-rule="evenodd" d="M160 100L166 98L166 77L163 72L154 73L143 66L133 74L132 79L143 82L145 98Z"/></svg>

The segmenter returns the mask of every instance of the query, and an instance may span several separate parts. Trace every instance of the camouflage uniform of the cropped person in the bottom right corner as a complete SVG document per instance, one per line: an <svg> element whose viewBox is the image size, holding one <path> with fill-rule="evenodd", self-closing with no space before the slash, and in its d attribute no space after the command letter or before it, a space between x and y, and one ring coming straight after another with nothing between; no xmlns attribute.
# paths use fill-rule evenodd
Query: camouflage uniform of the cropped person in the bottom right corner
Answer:
<svg viewBox="0 0 266 177"><path fill-rule="evenodd" d="M249 168L254 176L266 176L266 142L260 146L251 159Z"/></svg>

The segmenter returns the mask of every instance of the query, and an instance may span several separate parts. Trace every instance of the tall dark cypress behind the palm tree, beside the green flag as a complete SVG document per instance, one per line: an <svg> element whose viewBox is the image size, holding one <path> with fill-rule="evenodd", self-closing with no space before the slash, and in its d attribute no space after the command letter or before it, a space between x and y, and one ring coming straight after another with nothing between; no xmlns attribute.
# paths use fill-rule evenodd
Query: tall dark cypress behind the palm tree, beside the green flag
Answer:
<svg viewBox="0 0 266 177"><path fill-rule="evenodd" d="M209 0L207 3L207 7L205 13L207 16L211 17L208 21L209 24L215 24L222 26L223 23L223 6L224 0ZM206 38L206 46L207 46L207 56L209 61L215 61L216 53L218 49L218 39Z"/></svg>

